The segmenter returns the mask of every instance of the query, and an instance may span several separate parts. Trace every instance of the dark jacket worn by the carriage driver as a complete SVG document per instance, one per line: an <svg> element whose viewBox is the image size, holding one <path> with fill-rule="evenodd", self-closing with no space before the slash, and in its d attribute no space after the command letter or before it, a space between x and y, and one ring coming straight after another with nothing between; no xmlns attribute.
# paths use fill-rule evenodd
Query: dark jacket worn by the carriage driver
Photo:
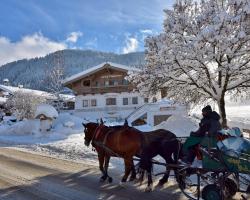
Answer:
<svg viewBox="0 0 250 200"><path fill-rule="evenodd" d="M219 130L221 130L220 115L213 111L201 119L199 129L191 132L191 136L203 137L206 133L215 136Z"/></svg>

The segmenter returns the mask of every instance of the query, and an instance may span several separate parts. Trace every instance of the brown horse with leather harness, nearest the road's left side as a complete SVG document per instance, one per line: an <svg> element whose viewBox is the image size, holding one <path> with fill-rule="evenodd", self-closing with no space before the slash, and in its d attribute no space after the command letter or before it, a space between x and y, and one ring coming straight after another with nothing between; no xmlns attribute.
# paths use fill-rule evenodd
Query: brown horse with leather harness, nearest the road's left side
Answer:
<svg viewBox="0 0 250 200"><path fill-rule="evenodd" d="M103 124L83 124L85 132L85 145L96 149L99 160L99 168L102 172L100 181L112 178L108 175L108 165L111 156L124 159L125 174L121 182L126 182L131 172L130 181L136 178L133 156L139 154L141 149L141 134L137 129L124 126L107 127Z"/></svg>

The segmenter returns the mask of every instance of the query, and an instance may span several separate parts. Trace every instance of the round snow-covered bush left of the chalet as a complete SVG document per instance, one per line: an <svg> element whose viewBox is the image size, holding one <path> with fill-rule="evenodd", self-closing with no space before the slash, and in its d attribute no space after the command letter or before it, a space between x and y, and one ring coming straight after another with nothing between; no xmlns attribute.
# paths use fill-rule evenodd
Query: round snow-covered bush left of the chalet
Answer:
<svg viewBox="0 0 250 200"><path fill-rule="evenodd" d="M15 92L7 102L6 107L17 119L31 119L38 104L45 102L45 98L31 93Z"/></svg>

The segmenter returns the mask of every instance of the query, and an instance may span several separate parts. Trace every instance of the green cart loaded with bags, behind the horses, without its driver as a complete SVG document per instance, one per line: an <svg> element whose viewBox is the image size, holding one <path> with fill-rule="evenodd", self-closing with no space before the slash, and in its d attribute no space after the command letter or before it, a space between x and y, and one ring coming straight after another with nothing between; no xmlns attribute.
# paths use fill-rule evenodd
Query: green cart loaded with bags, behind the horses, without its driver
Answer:
<svg viewBox="0 0 250 200"><path fill-rule="evenodd" d="M238 130L204 137L199 148L202 166L172 166L178 168L177 181L185 196L219 200L250 192L250 141L240 137Z"/></svg>

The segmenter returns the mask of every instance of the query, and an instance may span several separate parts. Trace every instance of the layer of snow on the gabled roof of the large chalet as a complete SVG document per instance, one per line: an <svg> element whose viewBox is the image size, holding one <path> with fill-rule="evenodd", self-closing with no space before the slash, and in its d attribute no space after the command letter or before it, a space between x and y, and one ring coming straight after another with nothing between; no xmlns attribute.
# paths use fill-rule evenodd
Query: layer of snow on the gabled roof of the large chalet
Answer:
<svg viewBox="0 0 250 200"><path fill-rule="evenodd" d="M124 71L140 71L140 69L138 68L135 68L135 67L129 67L129 66L125 66L125 65L121 65L121 64L117 64L117 63L112 63L112 62L103 62L97 66L94 66L94 67L91 67L83 72L80 72L78 74L75 74L73 76L70 76L68 78L66 78L64 81L63 81L63 84L69 84L73 81L76 81L76 80L79 80L83 77L86 77L90 74L93 74L95 73L96 71L99 71L101 69L104 69L106 67L106 65L109 65L110 68L113 68L113 69L121 69L121 70L124 70Z"/></svg>

